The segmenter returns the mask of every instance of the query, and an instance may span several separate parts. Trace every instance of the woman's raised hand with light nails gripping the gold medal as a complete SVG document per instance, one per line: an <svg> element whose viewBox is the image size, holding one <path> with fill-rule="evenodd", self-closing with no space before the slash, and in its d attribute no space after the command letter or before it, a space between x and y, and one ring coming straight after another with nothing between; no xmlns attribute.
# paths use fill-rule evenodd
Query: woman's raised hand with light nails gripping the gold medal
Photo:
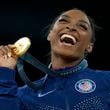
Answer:
<svg viewBox="0 0 110 110"><path fill-rule="evenodd" d="M15 69L18 56L15 55L13 45L0 46L0 66Z"/></svg>

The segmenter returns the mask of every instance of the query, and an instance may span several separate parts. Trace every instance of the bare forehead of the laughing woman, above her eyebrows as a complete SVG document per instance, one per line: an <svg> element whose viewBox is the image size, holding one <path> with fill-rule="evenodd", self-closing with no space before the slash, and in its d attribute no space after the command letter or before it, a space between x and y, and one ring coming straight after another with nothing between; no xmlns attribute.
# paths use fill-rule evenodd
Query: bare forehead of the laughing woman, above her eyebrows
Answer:
<svg viewBox="0 0 110 110"><path fill-rule="evenodd" d="M90 24L87 15L83 11L78 10L78 9L72 9L72 10L66 11L66 12L62 13L60 17L62 17L62 16L67 16L70 19L84 20L84 21L88 22L88 24Z"/></svg>

